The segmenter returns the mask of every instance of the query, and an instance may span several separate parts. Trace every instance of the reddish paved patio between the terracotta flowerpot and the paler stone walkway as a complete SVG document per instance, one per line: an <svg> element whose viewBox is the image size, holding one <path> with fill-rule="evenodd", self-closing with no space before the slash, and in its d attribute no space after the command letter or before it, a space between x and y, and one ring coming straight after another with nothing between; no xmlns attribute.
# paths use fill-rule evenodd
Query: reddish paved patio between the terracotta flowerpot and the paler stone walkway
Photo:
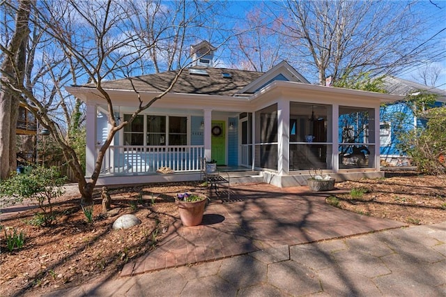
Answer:
<svg viewBox="0 0 446 297"><path fill-rule="evenodd" d="M325 197L332 192L265 183L231 186L231 202L212 194L196 227L183 227L176 218L156 250L126 264L121 276L403 226L329 206Z"/></svg>

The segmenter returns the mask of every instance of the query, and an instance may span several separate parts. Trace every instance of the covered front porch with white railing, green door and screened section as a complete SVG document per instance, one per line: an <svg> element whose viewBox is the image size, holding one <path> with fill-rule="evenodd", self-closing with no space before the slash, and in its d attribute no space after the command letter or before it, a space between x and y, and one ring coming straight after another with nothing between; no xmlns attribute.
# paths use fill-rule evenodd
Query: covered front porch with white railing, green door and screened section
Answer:
<svg viewBox="0 0 446 297"><path fill-rule="evenodd" d="M187 96L169 94L119 131L98 185L197 181L202 158L229 172L260 172L279 187L305 185L312 169L337 180L382 176L380 103L395 96L293 82L273 82L249 98ZM118 120L134 110L125 102L116 102ZM95 127L87 130L87 176L107 119L105 106L87 102L87 126Z"/></svg>

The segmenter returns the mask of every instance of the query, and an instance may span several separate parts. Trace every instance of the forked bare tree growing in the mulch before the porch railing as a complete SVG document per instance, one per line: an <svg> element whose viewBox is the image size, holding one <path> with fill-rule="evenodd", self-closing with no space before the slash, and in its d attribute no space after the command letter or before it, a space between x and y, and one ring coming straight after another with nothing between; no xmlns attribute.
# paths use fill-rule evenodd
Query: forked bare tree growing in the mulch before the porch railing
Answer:
<svg viewBox="0 0 446 297"><path fill-rule="evenodd" d="M137 3L137 1L121 2L112 0L39 1L33 10L32 26L42 29L45 32L45 36L52 39L55 50L54 56L61 56L67 62L63 64L64 66L58 65L57 67L54 67L52 63L46 63L48 75L54 77L57 82L54 83L55 87L49 92L49 95L55 94L58 98L62 98L61 86L68 84L69 79L67 77L70 75L73 79L72 82L88 82L98 91L98 96L107 105L108 121L111 128L105 143L102 144L98 152L91 178L87 179L84 177L81 160L79 160L76 151L72 147L69 137L66 137L66 133L64 133L70 129L70 123L76 123L77 121L68 122L68 127L56 121L54 111L49 109L49 106L52 105L47 104L49 99L45 96L45 101L43 97L40 98L36 95L36 93L42 93L42 90L39 92L33 92L36 91L35 89L30 91L23 82L17 81L4 84L11 92L23 94L21 102L25 105L37 107L36 116L40 124L51 132L52 137L61 146L68 165L79 180L79 192L85 202L89 202L92 199L91 195L100 174L105 151L107 151L116 132L131 123L140 112L168 93L176 83L176 79L182 73L183 68L187 66L186 59L184 61L179 59L178 65L180 68L177 71L176 79L173 80L166 90L154 96L149 102L143 102L135 90L135 95L139 98L139 106L134 110L128 121L117 121L112 99L107 90L102 87L102 80L114 78L116 73L134 75L134 72L129 72L129 70L134 70L134 64L140 59L144 59L144 56L141 56L139 51L151 52L153 47L160 44L148 43L141 45L138 32L134 31L134 27L129 25L130 22L128 22L127 16L132 11L136 13L132 8ZM190 4L192 3L194 5L191 6ZM192 17L200 3L188 2L185 5L185 1L183 1L183 4L179 6L180 10L177 11L180 20L175 24L162 23L164 26L158 27L157 32L154 34L162 36L160 32L169 31L169 26L174 26L176 28L174 36L170 36L171 39L168 38L169 36L164 36L164 41L175 40L174 44L177 46L178 51L183 52L188 34L187 29L194 25L200 26L202 24L194 22ZM201 19L199 18L199 20ZM197 28L192 29L197 31ZM135 47L134 45L141 46ZM76 78L77 80L75 80ZM52 97L49 96L49 98ZM58 106L64 113L68 114L68 109L63 105L65 101L62 101L59 101ZM78 103L75 102L74 105L78 106Z"/></svg>

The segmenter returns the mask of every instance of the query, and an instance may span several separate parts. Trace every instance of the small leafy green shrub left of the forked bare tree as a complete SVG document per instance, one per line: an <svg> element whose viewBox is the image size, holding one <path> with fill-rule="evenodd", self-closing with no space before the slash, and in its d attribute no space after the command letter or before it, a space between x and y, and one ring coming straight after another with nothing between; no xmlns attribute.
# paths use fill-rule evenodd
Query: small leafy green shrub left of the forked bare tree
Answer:
<svg viewBox="0 0 446 297"><path fill-rule="evenodd" d="M35 200L43 211L45 226L54 221L52 213L52 199L63 195L63 183L66 178L56 167L37 167L30 174L16 174L0 183L0 197L9 199L13 203L23 199Z"/></svg>

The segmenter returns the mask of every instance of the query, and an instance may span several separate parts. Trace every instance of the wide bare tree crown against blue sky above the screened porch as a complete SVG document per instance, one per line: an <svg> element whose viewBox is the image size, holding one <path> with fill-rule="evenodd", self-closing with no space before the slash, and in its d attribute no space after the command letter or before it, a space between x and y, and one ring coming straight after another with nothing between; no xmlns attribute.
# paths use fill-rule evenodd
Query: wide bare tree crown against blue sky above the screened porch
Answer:
<svg viewBox="0 0 446 297"><path fill-rule="evenodd" d="M438 32L429 29L426 15L406 1L286 1L288 17L282 32L289 38L295 63L314 69L318 83L329 75L336 81L346 72L392 74L417 66L424 57L444 58Z"/></svg>

